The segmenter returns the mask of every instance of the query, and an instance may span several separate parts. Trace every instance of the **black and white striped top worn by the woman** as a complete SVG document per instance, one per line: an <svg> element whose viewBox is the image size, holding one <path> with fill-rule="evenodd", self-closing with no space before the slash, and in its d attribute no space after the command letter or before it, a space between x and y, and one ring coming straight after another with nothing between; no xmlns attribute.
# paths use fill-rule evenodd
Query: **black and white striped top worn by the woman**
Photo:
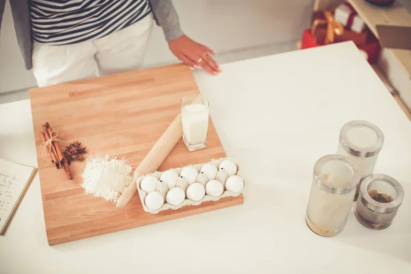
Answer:
<svg viewBox="0 0 411 274"><path fill-rule="evenodd" d="M151 12L148 0L31 0L34 42L69 45L102 38Z"/></svg>

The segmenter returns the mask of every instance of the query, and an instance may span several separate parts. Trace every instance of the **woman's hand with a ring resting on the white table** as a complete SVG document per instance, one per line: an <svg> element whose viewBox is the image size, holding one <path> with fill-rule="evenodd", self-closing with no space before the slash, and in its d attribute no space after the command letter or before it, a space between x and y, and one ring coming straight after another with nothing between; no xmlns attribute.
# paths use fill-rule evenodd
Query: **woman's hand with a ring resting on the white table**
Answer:
<svg viewBox="0 0 411 274"><path fill-rule="evenodd" d="M175 57L188 66L192 66L195 69L198 69L199 66L201 66L213 75L216 75L221 71L219 64L217 64L210 56L210 53L215 54L215 52L212 49L191 40L188 36L183 35L180 38L170 41L169 48Z"/></svg>

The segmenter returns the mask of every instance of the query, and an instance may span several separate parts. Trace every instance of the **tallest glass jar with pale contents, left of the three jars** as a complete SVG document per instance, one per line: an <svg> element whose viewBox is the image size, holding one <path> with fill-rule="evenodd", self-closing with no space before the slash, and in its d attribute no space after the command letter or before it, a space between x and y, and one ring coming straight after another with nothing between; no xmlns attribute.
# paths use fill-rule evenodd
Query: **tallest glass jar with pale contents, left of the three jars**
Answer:
<svg viewBox="0 0 411 274"><path fill-rule="evenodd" d="M336 236L347 223L360 180L358 169L341 155L326 155L314 165L306 223L321 236Z"/></svg>

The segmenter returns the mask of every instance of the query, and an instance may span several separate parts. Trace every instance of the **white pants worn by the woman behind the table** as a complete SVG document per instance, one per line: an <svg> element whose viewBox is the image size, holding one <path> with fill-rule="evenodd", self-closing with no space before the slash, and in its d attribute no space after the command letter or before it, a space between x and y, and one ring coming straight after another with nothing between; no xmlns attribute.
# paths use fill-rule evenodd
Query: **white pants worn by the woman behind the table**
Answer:
<svg viewBox="0 0 411 274"><path fill-rule="evenodd" d="M34 43L33 73L38 86L139 69L147 51L153 15L97 40L52 46Z"/></svg>

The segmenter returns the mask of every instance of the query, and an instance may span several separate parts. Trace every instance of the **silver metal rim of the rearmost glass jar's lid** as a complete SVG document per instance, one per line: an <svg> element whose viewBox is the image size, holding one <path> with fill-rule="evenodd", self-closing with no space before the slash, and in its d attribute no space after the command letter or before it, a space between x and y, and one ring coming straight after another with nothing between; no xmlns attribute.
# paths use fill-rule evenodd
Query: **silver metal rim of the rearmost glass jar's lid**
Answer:
<svg viewBox="0 0 411 274"><path fill-rule="evenodd" d="M373 132L375 132L377 140L374 144L367 147L361 147L349 140L348 132L351 129L360 127L371 129ZM384 145L384 134L382 133L381 129L379 129L379 127L377 127L373 123L367 121L351 121L341 127L339 141L340 146L343 147L343 149L349 154L359 158L369 158L373 155L377 155L379 151L381 151L382 145Z"/></svg>

